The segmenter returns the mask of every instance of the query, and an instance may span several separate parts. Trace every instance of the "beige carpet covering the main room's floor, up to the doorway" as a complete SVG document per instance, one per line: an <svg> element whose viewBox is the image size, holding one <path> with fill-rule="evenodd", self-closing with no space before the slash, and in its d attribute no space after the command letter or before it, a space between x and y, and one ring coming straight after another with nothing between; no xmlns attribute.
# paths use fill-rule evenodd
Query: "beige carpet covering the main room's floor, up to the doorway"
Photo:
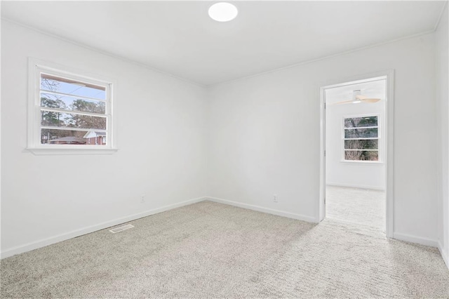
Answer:
<svg viewBox="0 0 449 299"><path fill-rule="evenodd" d="M448 298L436 248L210 201L1 260L1 298Z"/></svg>

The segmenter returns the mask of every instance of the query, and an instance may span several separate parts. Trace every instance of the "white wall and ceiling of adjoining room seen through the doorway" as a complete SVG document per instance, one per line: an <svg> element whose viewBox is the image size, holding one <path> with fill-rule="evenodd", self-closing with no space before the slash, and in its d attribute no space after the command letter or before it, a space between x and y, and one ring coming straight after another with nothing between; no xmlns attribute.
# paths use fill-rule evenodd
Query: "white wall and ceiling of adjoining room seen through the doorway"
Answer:
<svg viewBox="0 0 449 299"><path fill-rule="evenodd" d="M326 89L326 184L385 190L385 98L386 81L373 81ZM340 104L352 100L352 91L361 90L368 98L379 102ZM345 117L377 115L379 125L379 161L344 161L343 119Z"/></svg>

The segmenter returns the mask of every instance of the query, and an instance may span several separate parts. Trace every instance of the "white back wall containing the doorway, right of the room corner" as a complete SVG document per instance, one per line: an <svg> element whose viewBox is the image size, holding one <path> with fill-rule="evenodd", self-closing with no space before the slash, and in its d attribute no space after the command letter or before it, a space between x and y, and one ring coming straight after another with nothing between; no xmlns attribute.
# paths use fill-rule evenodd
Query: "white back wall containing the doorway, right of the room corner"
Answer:
<svg viewBox="0 0 449 299"><path fill-rule="evenodd" d="M394 236L436 244L434 34L209 88L210 197L316 220L319 87L388 69L395 70Z"/></svg>

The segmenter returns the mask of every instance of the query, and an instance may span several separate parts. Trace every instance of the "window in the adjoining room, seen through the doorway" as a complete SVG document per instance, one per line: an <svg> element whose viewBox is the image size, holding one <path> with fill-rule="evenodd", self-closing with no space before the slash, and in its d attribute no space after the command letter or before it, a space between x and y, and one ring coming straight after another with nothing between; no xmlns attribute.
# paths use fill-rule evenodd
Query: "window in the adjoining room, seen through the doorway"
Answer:
<svg viewBox="0 0 449 299"><path fill-rule="evenodd" d="M344 161L379 161L378 117L345 117L343 124Z"/></svg>

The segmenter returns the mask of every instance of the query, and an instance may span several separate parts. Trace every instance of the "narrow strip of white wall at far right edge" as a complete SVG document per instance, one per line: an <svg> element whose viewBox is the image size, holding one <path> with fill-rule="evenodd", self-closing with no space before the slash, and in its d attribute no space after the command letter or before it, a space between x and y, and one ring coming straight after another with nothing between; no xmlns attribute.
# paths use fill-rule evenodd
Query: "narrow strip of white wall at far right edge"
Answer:
<svg viewBox="0 0 449 299"><path fill-rule="evenodd" d="M436 31L436 98L438 138L438 239L449 267L449 93L448 93L448 5Z"/></svg>

